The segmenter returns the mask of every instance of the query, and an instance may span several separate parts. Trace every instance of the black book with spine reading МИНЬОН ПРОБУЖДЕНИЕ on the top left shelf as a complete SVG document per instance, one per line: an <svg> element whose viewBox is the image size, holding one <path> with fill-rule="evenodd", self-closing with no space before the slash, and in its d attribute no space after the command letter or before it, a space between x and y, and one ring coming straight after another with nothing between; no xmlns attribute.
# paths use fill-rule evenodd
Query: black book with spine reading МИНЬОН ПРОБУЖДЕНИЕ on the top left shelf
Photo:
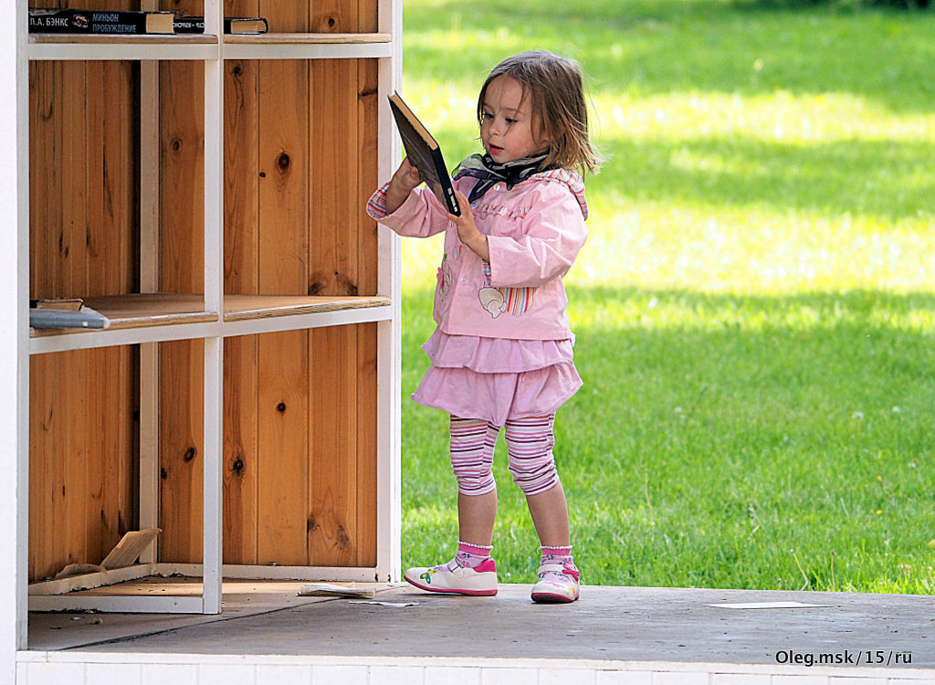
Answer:
<svg viewBox="0 0 935 685"><path fill-rule="evenodd" d="M39 9L29 8L29 32L42 34L133 34L175 33L175 12L144 12L131 9Z"/></svg>

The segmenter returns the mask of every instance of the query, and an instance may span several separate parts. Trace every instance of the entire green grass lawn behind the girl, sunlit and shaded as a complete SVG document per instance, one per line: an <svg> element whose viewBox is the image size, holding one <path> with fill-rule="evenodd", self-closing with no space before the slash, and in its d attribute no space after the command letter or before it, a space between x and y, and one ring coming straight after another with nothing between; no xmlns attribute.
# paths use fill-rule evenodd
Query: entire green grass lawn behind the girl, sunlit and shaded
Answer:
<svg viewBox="0 0 935 685"><path fill-rule="evenodd" d="M577 58L608 162L566 283L556 459L588 584L935 593L935 12L406 0L403 93L454 165L487 71ZM456 540L403 247L403 564ZM497 451L495 556L538 540Z"/></svg>

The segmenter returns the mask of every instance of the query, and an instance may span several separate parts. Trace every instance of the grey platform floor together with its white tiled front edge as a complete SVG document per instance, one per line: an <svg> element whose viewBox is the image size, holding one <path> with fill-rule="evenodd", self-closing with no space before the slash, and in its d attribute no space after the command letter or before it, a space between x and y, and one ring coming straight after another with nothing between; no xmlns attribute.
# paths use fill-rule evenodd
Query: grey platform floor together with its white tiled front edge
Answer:
<svg viewBox="0 0 935 685"><path fill-rule="evenodd" d="M22 682L78 668L76 682L134 685L935 683L928 596L586 587L573 605L535 605L524 585L491 598L405 586L374 605L299 585L225 583L220 617L34 614Z"/></svg>

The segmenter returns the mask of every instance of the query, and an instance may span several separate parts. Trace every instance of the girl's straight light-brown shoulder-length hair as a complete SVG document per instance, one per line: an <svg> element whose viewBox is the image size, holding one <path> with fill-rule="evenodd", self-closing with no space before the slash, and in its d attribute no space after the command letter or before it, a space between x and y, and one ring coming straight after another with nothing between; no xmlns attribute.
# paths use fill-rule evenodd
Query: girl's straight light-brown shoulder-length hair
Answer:
<svg viewBox="0 0 935 685"><path fill-rule="evenodd" d="M498 76L509 76L523 86L539 133L550 140L545 167L577 168L582 174L597 171L603 161L588 138L587 105L581 66L549 51L520 52L494 67L483 82L477 100L478 123L483 122L483 98ZM533 128L535 132L535 127Z"/></svg>

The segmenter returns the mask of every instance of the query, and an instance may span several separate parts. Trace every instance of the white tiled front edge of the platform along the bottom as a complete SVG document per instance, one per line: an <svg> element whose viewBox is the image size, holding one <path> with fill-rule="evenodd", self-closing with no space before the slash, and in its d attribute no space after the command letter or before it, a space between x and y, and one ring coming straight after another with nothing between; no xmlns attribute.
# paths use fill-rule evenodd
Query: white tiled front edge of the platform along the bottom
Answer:
<svg viewBox="0 0 935 685"><path fill-rule="evenodd" d="M935 669L613 662L22 651L17 685L922 685ZM570 678L570 679L569 679Z"/></svg>

